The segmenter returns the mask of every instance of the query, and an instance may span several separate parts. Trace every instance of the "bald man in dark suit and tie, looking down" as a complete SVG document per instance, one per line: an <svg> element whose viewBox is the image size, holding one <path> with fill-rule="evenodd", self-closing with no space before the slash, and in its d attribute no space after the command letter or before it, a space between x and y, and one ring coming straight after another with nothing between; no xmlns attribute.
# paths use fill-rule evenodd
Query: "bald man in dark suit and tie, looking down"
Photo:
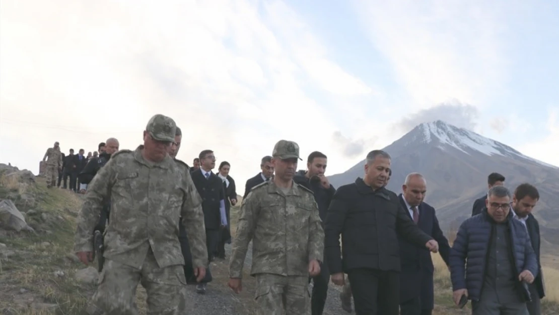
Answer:
<svg viewBox="0 0 559 315"><path fill-rule="evenodd" d="M435 209L423 200L427 180L420 173L410 173L402 185L400 203L411 220L439 243L439 253L448 266L450 246L439 227ZM398 237L400 245L400 314L430 315L433 312L433 261L427 248L417 247Z"/></svg>

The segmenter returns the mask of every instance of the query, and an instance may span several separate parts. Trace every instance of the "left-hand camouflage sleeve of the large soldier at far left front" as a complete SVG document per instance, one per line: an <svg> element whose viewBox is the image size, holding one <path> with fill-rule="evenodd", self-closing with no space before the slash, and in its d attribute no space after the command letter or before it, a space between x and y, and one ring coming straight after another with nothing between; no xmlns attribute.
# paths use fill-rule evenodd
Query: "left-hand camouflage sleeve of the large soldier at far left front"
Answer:
<svg viewBox="0 0 559 315"><path fill-rule="evenodd" d="M103 200L108 200L116 178L116 162L111 159L87 186L86 200L78 215L74 237L75 252L93 251L93 229L99 221Z"/></svg>

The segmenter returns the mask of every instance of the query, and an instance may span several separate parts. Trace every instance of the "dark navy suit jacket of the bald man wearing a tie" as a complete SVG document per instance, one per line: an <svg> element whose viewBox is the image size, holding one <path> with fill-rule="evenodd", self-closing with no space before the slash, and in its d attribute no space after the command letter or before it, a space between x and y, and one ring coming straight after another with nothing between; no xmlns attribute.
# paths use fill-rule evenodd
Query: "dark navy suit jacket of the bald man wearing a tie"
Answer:
<svg viewBox="0 0 559 315"><path fill-rule="evenodd" d="M398 196L402 207L406 209L406 214L411 217L408 206L404 202L402 194ZM444 237L443 231L439 226L439 220L435 215L435 209L427 203L421 203L419 209L418 227L421 231L429 234L435 241L439 243L439 253L444 262L448 265L448 255L451 247L448 240ZM431 253L427 248L419 248L414 246L401 236L398 236L400 245L400 303L421 298L421 308L433 309L433 260Z"/></svg>

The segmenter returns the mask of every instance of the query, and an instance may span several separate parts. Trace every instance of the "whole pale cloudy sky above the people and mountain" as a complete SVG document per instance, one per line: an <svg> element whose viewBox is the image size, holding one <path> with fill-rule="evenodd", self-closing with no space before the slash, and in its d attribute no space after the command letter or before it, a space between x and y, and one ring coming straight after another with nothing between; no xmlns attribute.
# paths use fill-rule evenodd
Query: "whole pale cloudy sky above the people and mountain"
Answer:
<svg viewBox="0 0 559 315"><path fill-rule="evenodd" d="M279 139L329 173L437 119L559 166L559 2L34 1L0 6L0 162L134 149L150 116L244 182ZM301 167L304 167L301 165Z"/></svg>

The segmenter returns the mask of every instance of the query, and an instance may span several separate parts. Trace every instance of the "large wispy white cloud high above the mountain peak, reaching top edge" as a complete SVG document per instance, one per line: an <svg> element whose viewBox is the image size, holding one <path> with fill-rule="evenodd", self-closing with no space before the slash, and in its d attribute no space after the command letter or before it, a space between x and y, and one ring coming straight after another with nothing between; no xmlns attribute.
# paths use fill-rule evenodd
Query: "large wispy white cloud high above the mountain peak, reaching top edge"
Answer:
<svg viewBox="0 0 559 315"><path fill-rule="evenodd" d="M457 98L479 105L506 75L509 2L355 0L373 43L416 109Z"/></svg>

